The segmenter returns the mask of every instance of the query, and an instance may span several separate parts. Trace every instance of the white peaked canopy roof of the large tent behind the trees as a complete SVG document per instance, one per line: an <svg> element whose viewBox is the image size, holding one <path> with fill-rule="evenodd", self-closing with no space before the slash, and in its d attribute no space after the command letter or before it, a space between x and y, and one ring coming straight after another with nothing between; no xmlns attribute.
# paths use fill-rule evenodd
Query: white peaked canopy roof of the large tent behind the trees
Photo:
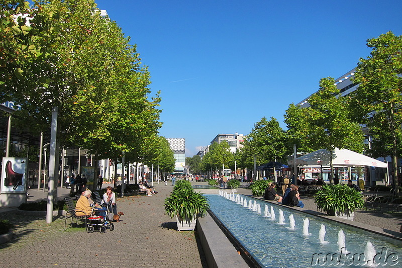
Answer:
<svg viewBox="0 0 402 268"><path fill-rule="evenodd" d="M336 166L352 166L352 165L366 165L384 167L388 166L387 163L381 162L377 159L368 157L348 149L335 148L332 153L332 163ZM303 156L296 158L297 165L330 165L331 153L326 149L320 149ZM293 164L293 160L287 161L289 165Z"/></svg>

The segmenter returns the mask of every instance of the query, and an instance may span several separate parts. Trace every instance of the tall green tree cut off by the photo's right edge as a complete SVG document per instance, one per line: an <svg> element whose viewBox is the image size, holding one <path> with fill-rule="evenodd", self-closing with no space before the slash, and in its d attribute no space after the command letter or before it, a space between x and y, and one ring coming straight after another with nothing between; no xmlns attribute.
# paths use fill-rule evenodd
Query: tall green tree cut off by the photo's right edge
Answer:
<svg viewBox="0 0 402 268"><path fill-rule="evenodd" d="M372 135L375 155L391 155L397 181L397 156L402 151L402 36L392 32L367 40L370 56L361 58L354 82L359 83L350 98L355 118L366 124Z"/></svg>

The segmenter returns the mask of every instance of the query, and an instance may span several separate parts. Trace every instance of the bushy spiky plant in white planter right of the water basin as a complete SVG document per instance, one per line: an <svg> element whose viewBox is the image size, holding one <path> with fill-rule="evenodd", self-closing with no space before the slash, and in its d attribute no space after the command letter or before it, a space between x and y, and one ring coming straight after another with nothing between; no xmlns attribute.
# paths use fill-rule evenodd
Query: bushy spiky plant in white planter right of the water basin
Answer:
<svg viewBox="0 0 402 268"><path fill-rule="evenodd" d="M353 221L354 211L364 207L360 192L347 185L324 185L315 195L317 209Z"/></svg>

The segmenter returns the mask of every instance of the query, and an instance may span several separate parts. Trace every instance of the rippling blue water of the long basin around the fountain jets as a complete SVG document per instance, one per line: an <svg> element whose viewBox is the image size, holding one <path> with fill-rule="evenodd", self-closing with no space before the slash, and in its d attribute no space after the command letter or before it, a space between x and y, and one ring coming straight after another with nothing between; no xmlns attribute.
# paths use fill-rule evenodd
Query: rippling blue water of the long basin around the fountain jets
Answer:
<svg viewBox="0 0 402 268"><path fill-rule="evenodd" d="M362 255L368 241L374 246L377 267L401 266L402 242L399 240L247 196L242 196L247 203L252 200L253 204L254 201L260 204L261 214L223 196L207 197L211 211L262 267L374 267L376 265L365 262L365 255ZM274 220L264 217L265 205L269 212L273 207ZM279 209L283 212L284 224L279 224ZM293 230L290 228L290 215L295 222ZM306 218L309 219L308 232L304 230ZM319 239L322 224L326 228L323 244ZM340 230L345 234L347 252L338 245Z"/></svg>

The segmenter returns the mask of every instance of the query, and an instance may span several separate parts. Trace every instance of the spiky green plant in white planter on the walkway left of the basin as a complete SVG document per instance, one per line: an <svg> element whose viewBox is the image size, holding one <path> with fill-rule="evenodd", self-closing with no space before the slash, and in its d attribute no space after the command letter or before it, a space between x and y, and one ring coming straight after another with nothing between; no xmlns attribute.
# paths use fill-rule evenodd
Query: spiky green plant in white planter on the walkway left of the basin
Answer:
<svg viewBox="0 0 402 268"><path fill-rule="evenodd" d="M196 217L207 212L210 205L207 198L193 189L179 189L165 200L165 213L176 217L177 231L194 230Z"/></svg>

